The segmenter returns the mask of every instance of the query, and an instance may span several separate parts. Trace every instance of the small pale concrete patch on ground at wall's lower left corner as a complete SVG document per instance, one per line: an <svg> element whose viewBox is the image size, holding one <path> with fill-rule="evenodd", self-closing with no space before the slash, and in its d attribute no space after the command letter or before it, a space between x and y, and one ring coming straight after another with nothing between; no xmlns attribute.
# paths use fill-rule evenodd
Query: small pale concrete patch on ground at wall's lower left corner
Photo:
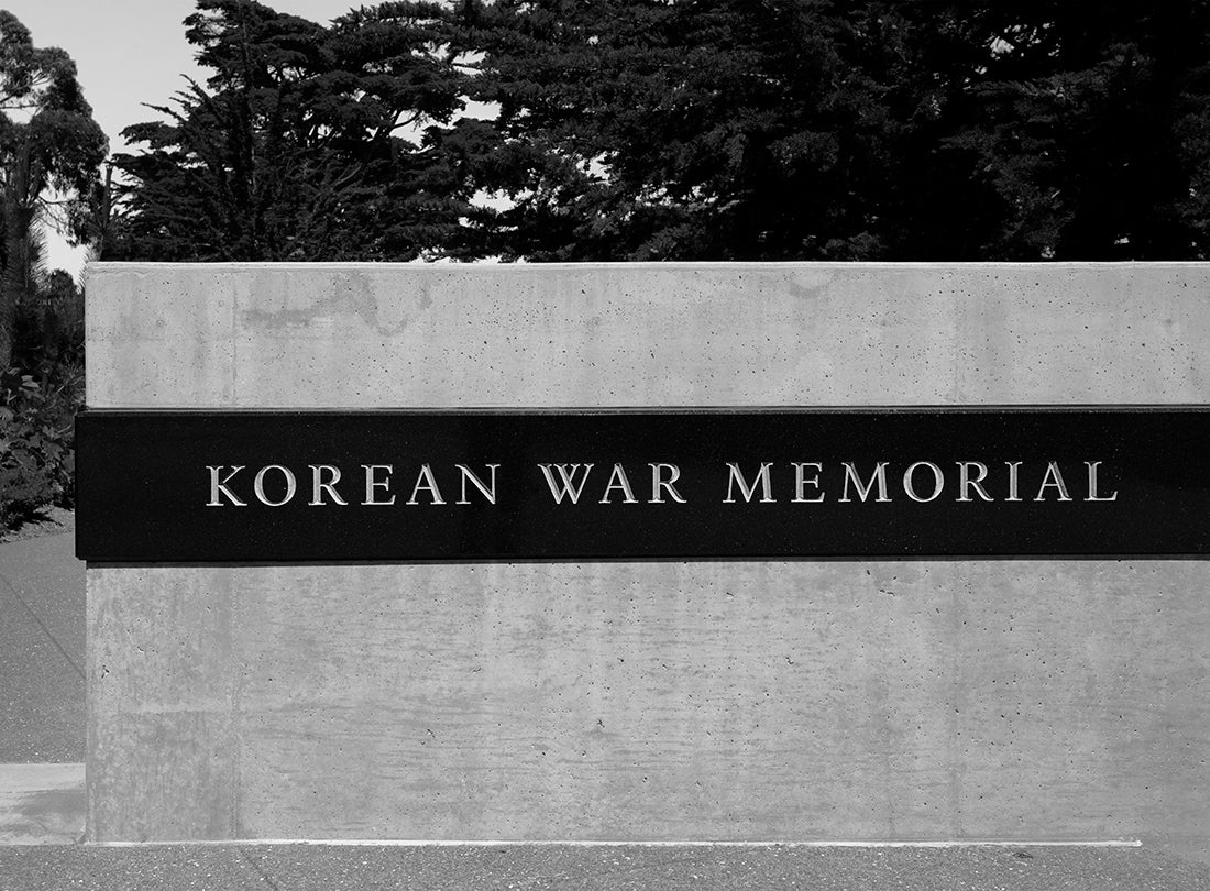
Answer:
<svg viewBox="0 0 1210 891"><path fill-rule="evenodd" d="M0 764L0 845L83 840L82 764Z"/></svg>

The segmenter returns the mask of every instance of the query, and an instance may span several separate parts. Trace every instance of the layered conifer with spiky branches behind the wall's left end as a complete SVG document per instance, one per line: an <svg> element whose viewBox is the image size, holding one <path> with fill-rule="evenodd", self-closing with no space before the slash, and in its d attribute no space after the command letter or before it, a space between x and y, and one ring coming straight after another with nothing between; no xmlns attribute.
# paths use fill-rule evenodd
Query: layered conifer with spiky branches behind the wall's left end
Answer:
<svg viewBox="0 0 1210 891"><path fill-rule="evenodd" d="M448 237L468 195L409 133L449 120L465 91L437 4L392 2L330 28L249 0L185 19L214 74L166 121L123 131L134 188L106 258L413 259Z"/></svg>

